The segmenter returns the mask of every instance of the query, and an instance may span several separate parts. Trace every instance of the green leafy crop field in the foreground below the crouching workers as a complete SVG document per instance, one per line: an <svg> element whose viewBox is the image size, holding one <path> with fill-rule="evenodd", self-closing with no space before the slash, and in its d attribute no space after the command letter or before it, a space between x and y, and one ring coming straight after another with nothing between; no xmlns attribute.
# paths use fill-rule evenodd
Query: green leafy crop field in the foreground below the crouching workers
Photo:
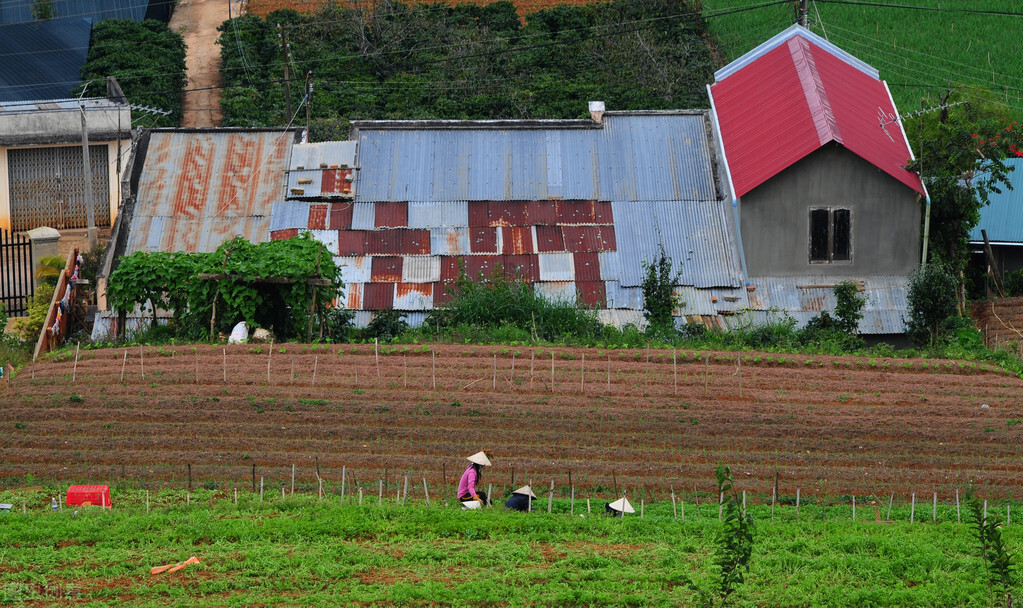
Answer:
<svg viewBox="0 0 1023 608"><path fill-rule="evenodd" d="M706 503L687 503L684 520L670 502L614 520L580 516L582 500L572 517L562 500L549 515L463 513L437 496L403 508L270 491L260 504L247 491L235 506L230 492L195 490L190 505L183 491L153 493L146 514L144 492L125 489L115 509L74 515L49 512L47 495L0 492L15 505L0 515L0 605L684 606L695 599L684 576L712 582L721 526ZM954 507L931 523L930 505L918 505L914 524L904 507L892 524L875 523L870 508L857 521L848 507L804 505L797 520L794 507L780 506L773 521L769 506L750 509L756 546L735 605L988 605L983 564ZM1019 524L1004 535L1010 551L1023 549ZM189 556L202 563L149 574Z"/></svg>

